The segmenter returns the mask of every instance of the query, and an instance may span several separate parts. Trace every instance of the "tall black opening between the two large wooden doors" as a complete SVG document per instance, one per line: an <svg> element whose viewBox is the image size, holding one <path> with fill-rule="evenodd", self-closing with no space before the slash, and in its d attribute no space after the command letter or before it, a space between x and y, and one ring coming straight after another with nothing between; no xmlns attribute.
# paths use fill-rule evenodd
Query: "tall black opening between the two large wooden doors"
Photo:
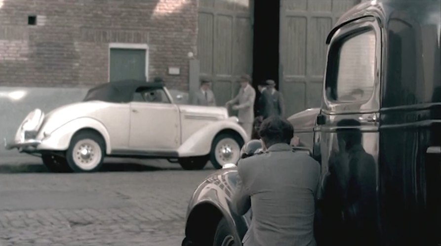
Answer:
<svg viewBox="0 0 441 246"><path fill-rule="evenodd" d="M279 85L279 14L280 0L254 1L253 86L256 89L264 80L274 80L276 88Z"/></svg>

